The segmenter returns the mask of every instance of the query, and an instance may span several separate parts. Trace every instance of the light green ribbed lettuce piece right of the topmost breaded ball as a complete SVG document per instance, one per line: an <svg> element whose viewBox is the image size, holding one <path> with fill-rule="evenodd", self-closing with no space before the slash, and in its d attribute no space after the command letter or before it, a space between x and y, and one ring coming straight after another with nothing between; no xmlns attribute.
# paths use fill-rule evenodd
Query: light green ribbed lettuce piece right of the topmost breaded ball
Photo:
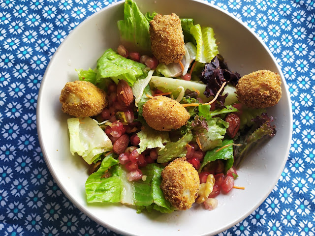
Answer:
<svg viewBox="0 0 315 236"><path fill-rule="evenodd" d="M200 27L199 24L190 28L190 33L197 43L196 61L209 63L219 54L215 33L210 27Z"/></svg>

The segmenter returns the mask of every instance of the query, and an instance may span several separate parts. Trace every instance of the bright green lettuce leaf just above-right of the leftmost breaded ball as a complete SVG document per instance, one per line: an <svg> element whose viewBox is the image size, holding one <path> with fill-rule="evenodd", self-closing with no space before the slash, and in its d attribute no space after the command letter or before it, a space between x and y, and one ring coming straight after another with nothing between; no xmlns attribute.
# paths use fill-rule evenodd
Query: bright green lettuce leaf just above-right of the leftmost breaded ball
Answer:
<svg viewBox="0 0 315 236"><path fill-rule="evenodd" d="M126 80L132 86L137 78L147 76L143 70L146 65L126 59L112 49L106 50L97 60L96 68L96 83L101 83L104 78L110 77L116 84L119 80Z"/></svg>

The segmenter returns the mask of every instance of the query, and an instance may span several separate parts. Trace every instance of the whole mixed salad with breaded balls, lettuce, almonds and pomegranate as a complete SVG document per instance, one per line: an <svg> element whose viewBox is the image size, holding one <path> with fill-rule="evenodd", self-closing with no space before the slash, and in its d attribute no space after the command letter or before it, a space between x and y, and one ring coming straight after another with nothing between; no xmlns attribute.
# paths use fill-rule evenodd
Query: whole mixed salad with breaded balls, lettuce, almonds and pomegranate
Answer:
<svg viewBox="0 0 315 236"><path fill-rule="evenodd" d="M126 0L121 44L96 68L77 69L60 102L70 152L89 167L88 203L170 213L240 191L237 169L276 134L267 108L282 96L280 75L240 75L219 52L214 30L175 13L143 14ZM234 188L234 190L233 190Z"/></svg>

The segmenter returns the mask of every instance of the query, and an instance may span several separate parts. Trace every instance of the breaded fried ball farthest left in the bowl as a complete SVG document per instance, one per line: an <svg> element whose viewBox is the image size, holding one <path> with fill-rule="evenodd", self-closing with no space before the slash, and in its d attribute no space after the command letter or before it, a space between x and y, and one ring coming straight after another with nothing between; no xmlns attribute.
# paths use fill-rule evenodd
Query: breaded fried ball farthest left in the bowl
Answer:
<svg viewBox="0 0 315 236"><path fill-rule="evenodd" d="M93 117L107 106L106 92L87 81L65 84L61 91L62 110L75 117Z"/></svg>

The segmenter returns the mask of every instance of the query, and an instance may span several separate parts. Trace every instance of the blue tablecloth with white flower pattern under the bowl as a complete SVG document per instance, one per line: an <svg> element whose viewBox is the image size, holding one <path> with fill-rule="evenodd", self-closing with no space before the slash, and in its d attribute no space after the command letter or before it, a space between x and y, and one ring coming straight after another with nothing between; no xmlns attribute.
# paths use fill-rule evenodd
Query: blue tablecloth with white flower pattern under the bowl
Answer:
<svg viewBox="0 0 315 236"><path fill-rule="evenodd" d="M0 0L0 235L116 235L80 212L50 175L36 102L63 39L113 0ZM285 169L268 198L220 236L315 235L315 1L211 0L245 22L282 67L293 109ZM223 219L222 219L223 220Z"/></svg>

